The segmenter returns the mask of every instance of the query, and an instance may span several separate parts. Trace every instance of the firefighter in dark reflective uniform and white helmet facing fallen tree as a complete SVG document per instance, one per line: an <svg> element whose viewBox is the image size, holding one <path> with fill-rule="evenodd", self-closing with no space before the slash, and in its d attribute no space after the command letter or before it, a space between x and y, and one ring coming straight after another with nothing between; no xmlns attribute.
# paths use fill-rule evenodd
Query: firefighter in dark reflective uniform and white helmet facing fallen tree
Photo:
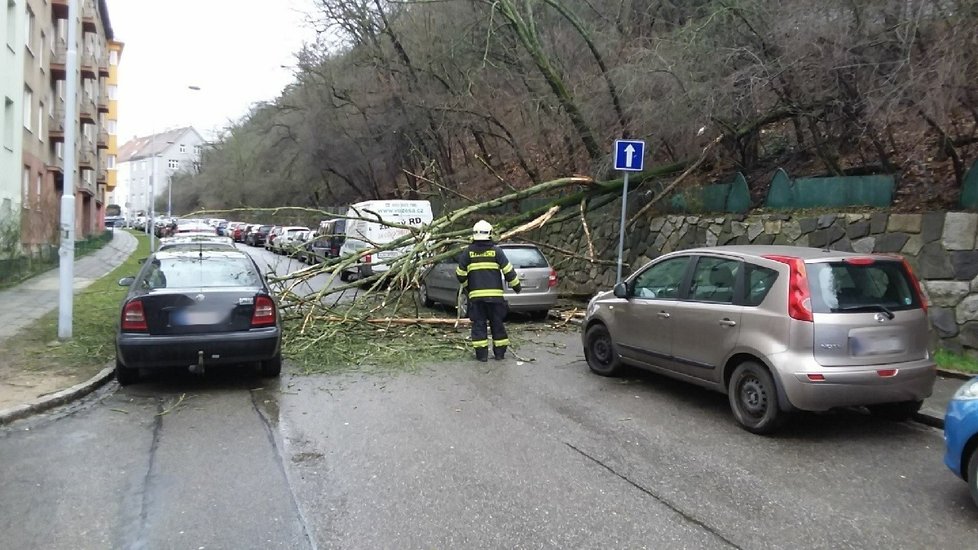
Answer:
<svg viewBox="0 0 978 550"><path fill-rule="evenodd" d="M502 249L492 243L492 225L489 222L479 220L472 227L472 244L459 255L455 275L469 296L475 358L479 361L489 360L488 321L492 330L493 355L497 360L504 359L509 338L503 325L507 311L506 300L503 299L503 277L517 294L522 289L513 264L506 259Z"/></svg>

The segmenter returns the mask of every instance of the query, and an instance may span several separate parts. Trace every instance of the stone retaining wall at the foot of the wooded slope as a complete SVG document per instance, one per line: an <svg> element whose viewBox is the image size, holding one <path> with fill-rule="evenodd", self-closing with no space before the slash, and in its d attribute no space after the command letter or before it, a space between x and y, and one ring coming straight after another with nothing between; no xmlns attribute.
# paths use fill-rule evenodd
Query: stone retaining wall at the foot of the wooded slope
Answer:
<svg viewBox="0 0 978 550"><path fill-rule="evenodd" d="M618 216L613 205L589 214L594 256L580 219L552 224L532 240L550 245L548 255L561 290L593 294L615 282ZM697 246L778 244L854 252L898 253L907 258L930 296L930 318L941 347L978 356L978 214L825 214L796 217L660 216L640 220L625 236L625 261L638 268L652 258ZM563 252L562 252L563 251ZM625 273L629 269L624 269Z"/></svg>

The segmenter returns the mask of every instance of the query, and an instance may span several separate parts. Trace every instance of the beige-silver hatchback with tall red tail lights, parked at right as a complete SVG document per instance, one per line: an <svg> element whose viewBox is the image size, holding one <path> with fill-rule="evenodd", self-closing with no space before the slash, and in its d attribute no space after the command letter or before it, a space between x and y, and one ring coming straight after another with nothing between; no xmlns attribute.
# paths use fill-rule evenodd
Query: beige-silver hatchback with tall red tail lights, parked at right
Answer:
<svg viewBox="0 0 978 550"><path fill-rule="evenodd" d="M790 246L668 254L595 296L582 326L591 370L623 364L726 393L769 433L796 410L919 410L936 366L927 300L898 256Z"/></svg>

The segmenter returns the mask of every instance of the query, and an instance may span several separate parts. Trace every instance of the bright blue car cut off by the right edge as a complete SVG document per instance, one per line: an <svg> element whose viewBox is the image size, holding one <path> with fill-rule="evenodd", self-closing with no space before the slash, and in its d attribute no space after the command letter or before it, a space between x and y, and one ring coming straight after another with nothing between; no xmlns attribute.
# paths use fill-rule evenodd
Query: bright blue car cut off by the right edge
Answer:
<svg viewBox="0 0 978 550"><path fill-rule="evenodd" d="M968 482L978 505L978 377L961 386L944 417L944 464Z"/></svg>

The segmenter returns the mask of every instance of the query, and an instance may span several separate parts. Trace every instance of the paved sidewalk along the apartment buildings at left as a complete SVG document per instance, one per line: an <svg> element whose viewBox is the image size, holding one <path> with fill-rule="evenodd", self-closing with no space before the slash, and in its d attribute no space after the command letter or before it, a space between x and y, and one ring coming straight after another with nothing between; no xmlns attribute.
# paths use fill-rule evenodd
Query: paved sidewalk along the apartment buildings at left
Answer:
<svg viewBox="0 0 978 550"><path fill-rule="evenodd" d="M75 293L107 275L136 250L136 237L116 230L101 249L75 260ZM58 307L60 273L57 268L0 290L0 343Z"/></svg>

